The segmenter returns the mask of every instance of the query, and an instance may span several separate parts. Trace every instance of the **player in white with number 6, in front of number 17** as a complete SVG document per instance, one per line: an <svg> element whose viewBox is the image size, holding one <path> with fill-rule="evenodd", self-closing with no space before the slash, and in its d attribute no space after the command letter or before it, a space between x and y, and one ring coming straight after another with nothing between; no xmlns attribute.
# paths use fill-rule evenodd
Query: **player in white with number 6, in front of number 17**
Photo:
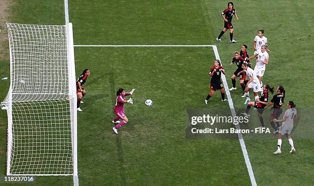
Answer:
<svg viewBox="0 0 314 186"><path fill-rule="evenodd" d="M243 68L243 70L238 73L238 76L240 75L240 73L246 72L247 77L250 78L246 84L245 89L244 89L244 94L246 96L246 100L245 100L244 104L248 104L248 102L251 100L249 97L249 90L251 88L253 88L255 100L259 99L259 93L258 92L260 90L260 81L257 78L254 70L251 69L250 67L248 67L248 63L246 63L246 62L243 63L242 68Z"/></svg>

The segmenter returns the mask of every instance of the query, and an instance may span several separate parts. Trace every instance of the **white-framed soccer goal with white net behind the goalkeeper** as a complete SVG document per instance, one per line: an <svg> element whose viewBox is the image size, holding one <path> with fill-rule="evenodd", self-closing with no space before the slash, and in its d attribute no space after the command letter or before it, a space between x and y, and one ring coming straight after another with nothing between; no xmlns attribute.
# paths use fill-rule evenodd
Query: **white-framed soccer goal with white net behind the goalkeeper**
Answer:
<svg viewBox="0 0 314 186"><path fill-rule="evenodd" d="M78 183L72 24L7 27L7 175L73 175Z"/></svg>

